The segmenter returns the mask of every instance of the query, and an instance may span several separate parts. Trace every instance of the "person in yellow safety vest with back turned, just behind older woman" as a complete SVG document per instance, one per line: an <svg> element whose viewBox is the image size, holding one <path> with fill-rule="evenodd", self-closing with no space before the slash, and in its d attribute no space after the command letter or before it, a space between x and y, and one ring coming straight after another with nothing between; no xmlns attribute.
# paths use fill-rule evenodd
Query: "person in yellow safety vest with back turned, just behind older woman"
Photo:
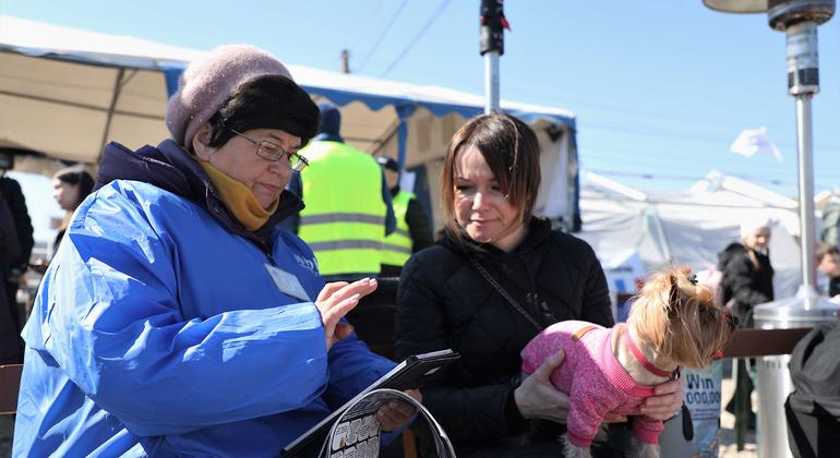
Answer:
<svg viewBox="0 0 840 458"><path fill-rule="evenodd" d="M319 134L300 150L309 166L288 186L305 208L283 226L310 245L327 281L379 276L382 242L396 227L391 193L373 156L344 143L338 109L317 107Z"/></svg>

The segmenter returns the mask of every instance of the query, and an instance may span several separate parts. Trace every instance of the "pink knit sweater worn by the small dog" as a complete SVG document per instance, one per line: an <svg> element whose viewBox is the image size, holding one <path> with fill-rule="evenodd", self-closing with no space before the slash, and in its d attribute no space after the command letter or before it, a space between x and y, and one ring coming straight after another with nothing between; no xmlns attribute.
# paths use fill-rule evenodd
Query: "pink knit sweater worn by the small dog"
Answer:
<svg viewBox="0 0 840 458"><path fill-rule="evenodd" d="M575 336L585 327L579 338ZM587 322L567 321L551 325L523 350L523 372L531 374L561 349L566 360L551 374L555 388L568 394L566 421L568 439L578 447L589 447L598 426L609 412L638 414L645 398L653 395L653 386L636 383L612 354L612 328ZM662 422L634 417L633 434L643 443L656 444Z"/></svg>

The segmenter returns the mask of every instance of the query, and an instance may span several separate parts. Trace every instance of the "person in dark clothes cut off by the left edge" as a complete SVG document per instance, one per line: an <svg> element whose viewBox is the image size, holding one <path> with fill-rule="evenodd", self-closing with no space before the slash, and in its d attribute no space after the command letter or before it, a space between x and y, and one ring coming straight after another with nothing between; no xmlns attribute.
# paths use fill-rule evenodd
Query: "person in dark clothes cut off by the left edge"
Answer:
<svg viewBox="0 0 840 458"><path fill-rule="evenodd" d="M17 306L17 289L21 285L23 275L29 265L29 256L32 256L32 249L35 245L33 239L32 219L29 218L28 208L26 208L26 197L23 195L23 190L17 180L8 177L5 173L14 167L14 156L9 153L3 153L0 157L0 197L2 197L8 212L11 215L11 222L13 228L8 228L4 232L9 236L14 232L16 240L5 240L3 243L4 255L2 257L2 273L3 276L3 293L5 296L4 302L9 309L9 315L11 320L11 329L15 330L15 340L19 345L19 354L23 354L23 341L17 337L21 334L22 317L21 310ZM14 255L12 253L11 245L16 245Z"/></svg>

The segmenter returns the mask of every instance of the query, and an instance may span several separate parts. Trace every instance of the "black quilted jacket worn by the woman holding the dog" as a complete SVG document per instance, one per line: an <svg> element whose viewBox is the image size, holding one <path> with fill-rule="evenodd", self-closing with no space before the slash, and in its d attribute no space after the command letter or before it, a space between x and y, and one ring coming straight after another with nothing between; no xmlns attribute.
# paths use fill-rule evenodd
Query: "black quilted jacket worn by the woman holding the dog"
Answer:
<svg viewBox="0 0 840 458"><path fill-rule="evenodd" d="M504 443L527 426L513 402L519 352L538 330L479 274L471 253L519 304L548 326L613 324L601 265L584 241L533 218L512 253L461 244L449 234L415 254L397 293L396 355L452 348L460 360L422 389L423 403L458 451Z"/></svg>

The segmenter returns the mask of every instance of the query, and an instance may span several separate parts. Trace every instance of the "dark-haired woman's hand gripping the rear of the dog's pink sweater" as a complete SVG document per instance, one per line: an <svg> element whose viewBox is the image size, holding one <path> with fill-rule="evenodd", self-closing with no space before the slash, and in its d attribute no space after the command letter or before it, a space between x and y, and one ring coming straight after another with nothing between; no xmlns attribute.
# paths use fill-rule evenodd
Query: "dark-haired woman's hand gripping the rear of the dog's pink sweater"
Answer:
<svg viewBox="0 0 840 458"><path fill-rule="evenodd" d="M523 379L516 390L514 400L525 419L543 419L565 423L568 417L568 396L557 391L549 377L563 364L566 354L559 351L547 359L533 374Z"/></svg>

